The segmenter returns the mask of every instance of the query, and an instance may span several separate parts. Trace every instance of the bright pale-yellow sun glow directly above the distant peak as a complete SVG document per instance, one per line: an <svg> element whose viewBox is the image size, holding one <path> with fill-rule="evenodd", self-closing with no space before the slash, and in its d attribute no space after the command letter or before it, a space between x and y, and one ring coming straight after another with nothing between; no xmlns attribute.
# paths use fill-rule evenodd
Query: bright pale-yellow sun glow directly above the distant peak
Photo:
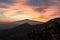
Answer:
<svg viewBox="0 0 60 40"><path fill-rule="evenodd" d="M9 16L9 18L11 19L15 19L15 21L19 21L19 20L25 20L25 19L29 19L29 20L35 20L35 21L41 21L41 22L45 22L46 20L39 18L40 16L38 16L37 14L31 14L30 12L23 12L23 14L19 13L16 15L11 15Z"/></svg>

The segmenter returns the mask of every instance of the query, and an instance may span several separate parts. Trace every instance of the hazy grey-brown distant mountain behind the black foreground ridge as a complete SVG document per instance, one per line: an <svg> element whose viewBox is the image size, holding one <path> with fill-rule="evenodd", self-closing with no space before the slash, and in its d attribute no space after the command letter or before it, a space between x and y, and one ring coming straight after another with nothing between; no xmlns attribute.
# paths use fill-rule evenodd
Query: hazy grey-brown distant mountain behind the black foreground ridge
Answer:
<svg viewBox="0 0 60 40"><path fill-rule="evenodd" d="M0 23L0 30L14 28L24 23L28 23L30 25L36 25L36 24L42 24L43 22L25 19L25 20L10 22L10 23Z"/></svg>

